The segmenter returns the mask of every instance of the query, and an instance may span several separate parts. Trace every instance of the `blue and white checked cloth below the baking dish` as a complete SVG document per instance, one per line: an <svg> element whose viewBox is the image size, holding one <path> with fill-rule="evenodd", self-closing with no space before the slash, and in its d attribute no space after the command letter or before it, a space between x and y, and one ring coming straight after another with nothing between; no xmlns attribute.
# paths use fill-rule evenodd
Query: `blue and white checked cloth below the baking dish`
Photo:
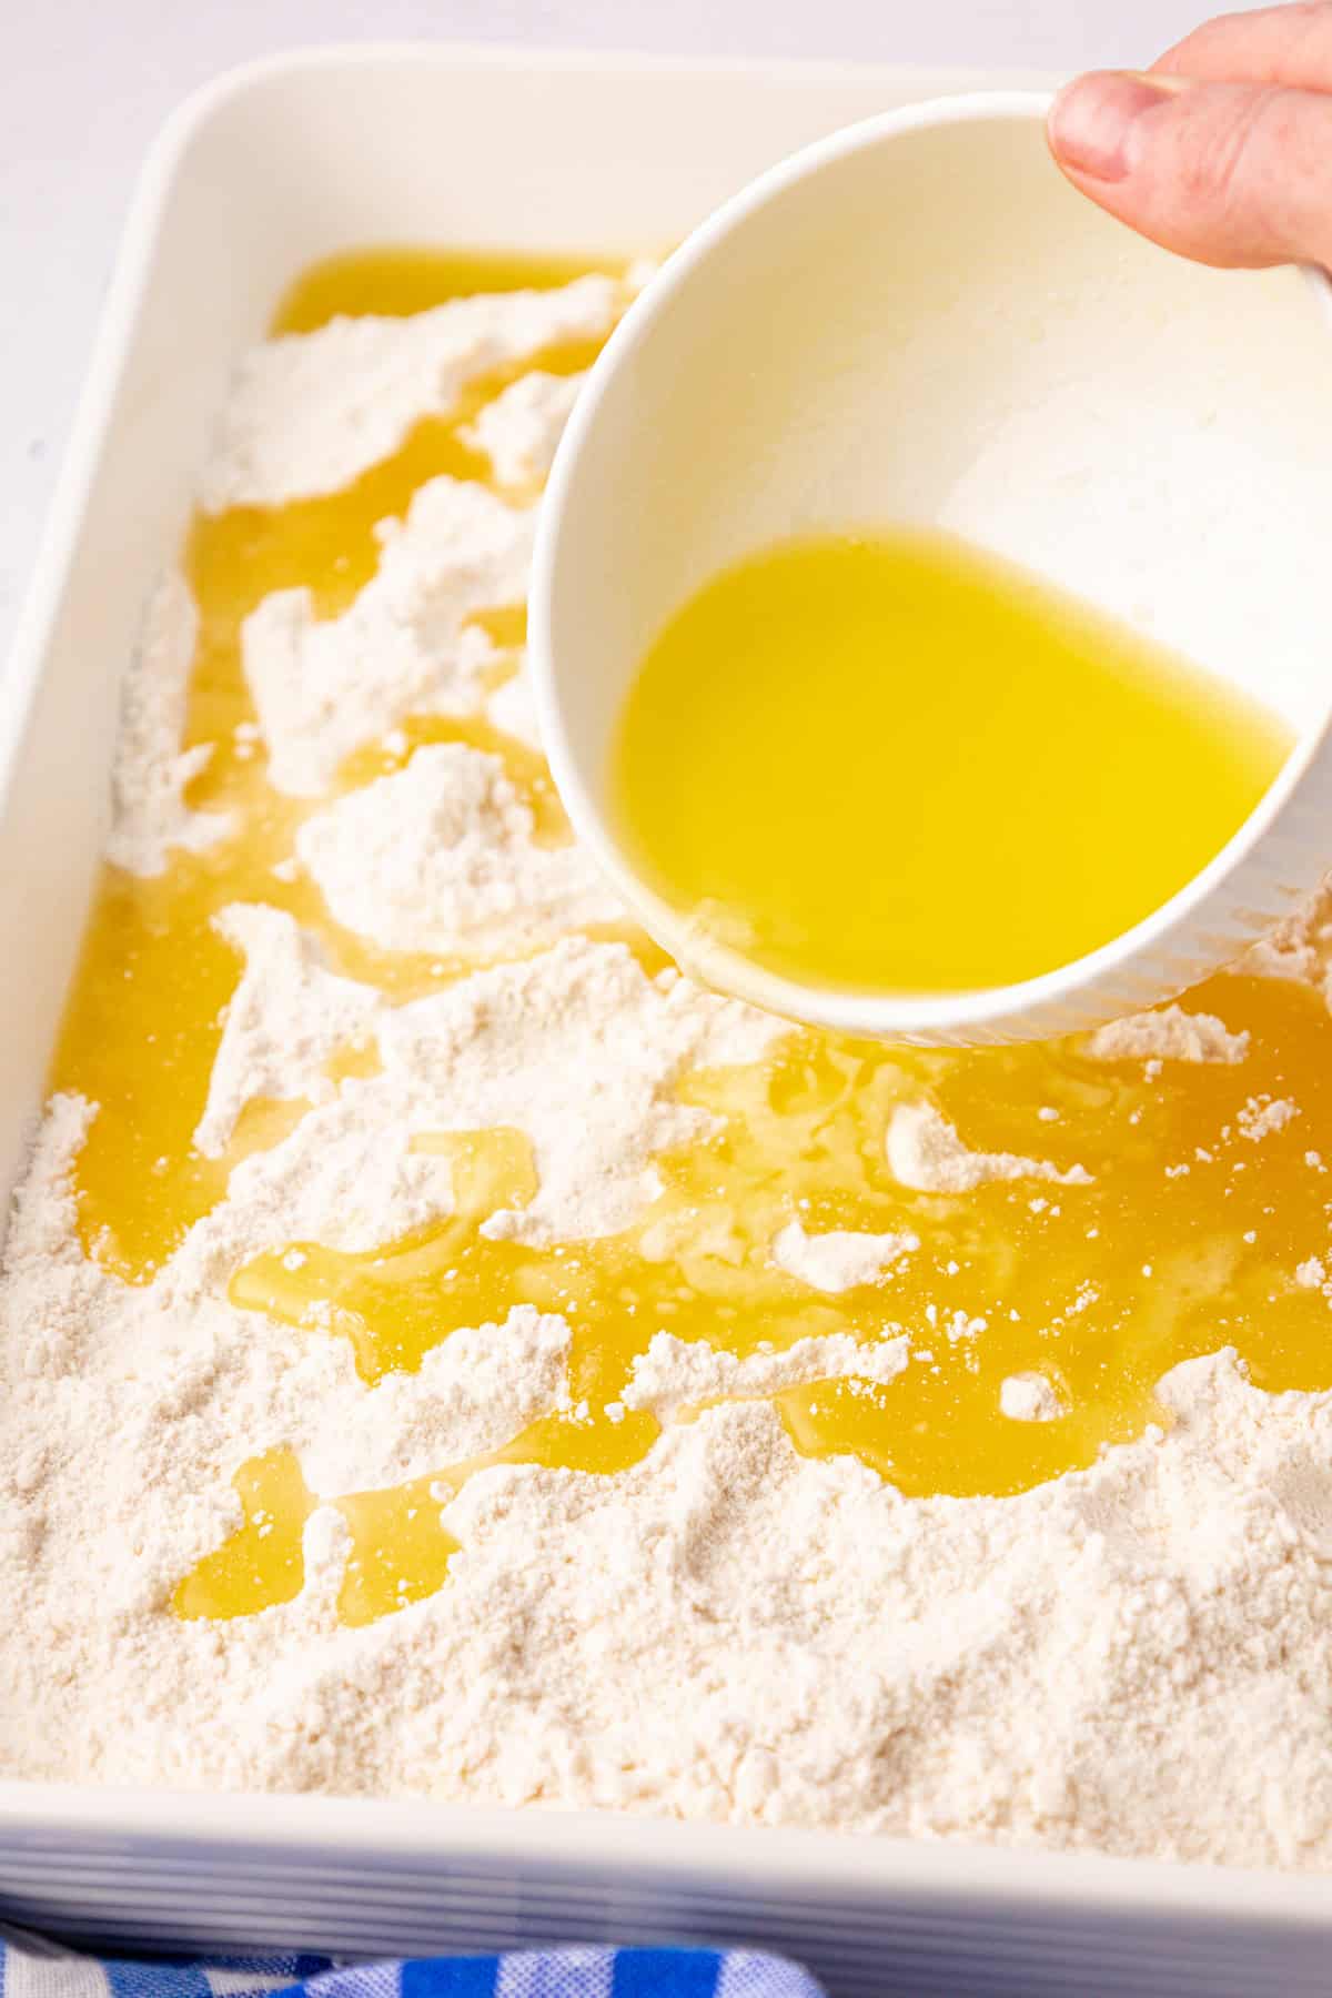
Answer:
<svg viewBox="0 0 1332 1998"><path fill-rule="evenodd" d="M751 1950L515 1950L345 1964L328 1956L120 1962L0 1928L0 1998L823 1998Z"/></svg>

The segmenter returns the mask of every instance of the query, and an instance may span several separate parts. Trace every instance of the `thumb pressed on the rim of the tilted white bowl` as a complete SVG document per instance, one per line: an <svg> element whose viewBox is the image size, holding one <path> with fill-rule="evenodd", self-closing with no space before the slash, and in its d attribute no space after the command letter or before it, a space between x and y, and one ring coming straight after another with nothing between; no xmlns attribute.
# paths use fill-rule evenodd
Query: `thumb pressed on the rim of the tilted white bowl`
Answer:
<svg viewBox="0 0 1332 1998"><path fill-rule="evenodd" d="M1100 70L1050 152L1120 222L1202 264L1332 264L1332 96Z"/></svg>

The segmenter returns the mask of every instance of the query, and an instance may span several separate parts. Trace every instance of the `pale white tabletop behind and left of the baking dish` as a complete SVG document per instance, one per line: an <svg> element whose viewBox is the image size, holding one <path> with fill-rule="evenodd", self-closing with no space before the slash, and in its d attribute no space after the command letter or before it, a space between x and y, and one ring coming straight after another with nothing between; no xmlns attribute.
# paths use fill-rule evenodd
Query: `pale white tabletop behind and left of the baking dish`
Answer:
<svg viewBox="0 0 1332 1998"><path fill-rule="evenodd" d="M1056 72L1144 64L1202 0L26 0L0 64L0 659L138 162L218 70L302 42L475 40Z"/></svg>

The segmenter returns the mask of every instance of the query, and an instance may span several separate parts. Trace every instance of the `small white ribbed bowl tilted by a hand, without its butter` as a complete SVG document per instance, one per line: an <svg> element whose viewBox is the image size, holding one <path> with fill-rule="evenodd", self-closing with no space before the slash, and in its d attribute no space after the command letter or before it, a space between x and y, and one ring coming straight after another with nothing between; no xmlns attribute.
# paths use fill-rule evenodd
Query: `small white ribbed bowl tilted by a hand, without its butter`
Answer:
<svg viewBox="0 0 1332 1998"><path fill-rule="evenodd" d="M947 98L753 182L617 328L543 503L531 659L577 835L689 971L821 1027L959 1045L1090 1027L1234 959L1332 859L1332 290L1132 236L1056 172L1046 110ZM701 945L609 811L613 729L667 617L765 543L895 523L1026 563L1258 695L1296 737L1188 887L1020 985L825 991ZM1170 809L1124 771L1126 813Z"/></svg>

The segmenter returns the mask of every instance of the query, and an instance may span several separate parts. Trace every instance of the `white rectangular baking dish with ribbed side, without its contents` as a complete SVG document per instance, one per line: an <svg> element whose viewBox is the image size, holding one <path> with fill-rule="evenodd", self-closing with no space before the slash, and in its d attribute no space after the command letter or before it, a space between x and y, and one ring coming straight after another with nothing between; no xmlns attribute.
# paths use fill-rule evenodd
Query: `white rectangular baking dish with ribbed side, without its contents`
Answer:
<svg viewBox="0 0 1332 1998"><path fill-rule="evenodd" d="M993 82L357 48L242 70L172 120L0 683L8 1177L106 831L120 671L230 362L282 286L367 242L653 250L803 140ZM1316 1878L320 1796L0 1782L0 1916L140 1948L763 1942L805 1958L833 1998L1332 1986Z"/></svg>

